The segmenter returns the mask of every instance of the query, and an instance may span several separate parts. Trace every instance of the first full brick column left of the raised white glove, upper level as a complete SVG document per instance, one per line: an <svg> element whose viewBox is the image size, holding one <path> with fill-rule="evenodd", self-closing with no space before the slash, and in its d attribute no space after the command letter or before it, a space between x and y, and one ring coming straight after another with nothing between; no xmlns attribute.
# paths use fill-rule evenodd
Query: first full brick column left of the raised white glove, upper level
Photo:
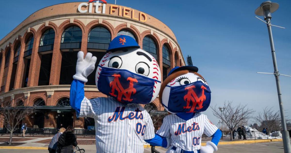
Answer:
<svg viewBox="0 0 291 153"><path fill-rule="evenodd" d="M60 50L61 34L55 35L54 50L52 56L51 74L49 77L49 83L52 85L58 85L60 82L61 64L62 64L62 52Z"/></svg>

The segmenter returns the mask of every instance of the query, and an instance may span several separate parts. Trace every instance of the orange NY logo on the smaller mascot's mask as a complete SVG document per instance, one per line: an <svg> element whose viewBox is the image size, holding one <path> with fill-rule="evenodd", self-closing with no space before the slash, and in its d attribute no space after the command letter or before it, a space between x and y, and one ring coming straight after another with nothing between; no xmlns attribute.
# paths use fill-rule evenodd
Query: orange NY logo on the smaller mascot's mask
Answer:
<svg viewBox="0 0 291 153"><path fill-rule="evenodd" d="M195 88L194 85L185 88L185 90L188 90L188 93L184 96L184 101L187 101L187 105L184 106L184 109L191 108L189 112L194 112L195 108L197 110L200 110L201 108L203 108L202 106L203 102L206 100L206 96L204 94L204 90L206 89L206 87L201 86L202 94L200 97L197 96L193 88ZM190 106L190 101L192 101L192 106ZM198 106L196 107L197 104Z"/></svg>

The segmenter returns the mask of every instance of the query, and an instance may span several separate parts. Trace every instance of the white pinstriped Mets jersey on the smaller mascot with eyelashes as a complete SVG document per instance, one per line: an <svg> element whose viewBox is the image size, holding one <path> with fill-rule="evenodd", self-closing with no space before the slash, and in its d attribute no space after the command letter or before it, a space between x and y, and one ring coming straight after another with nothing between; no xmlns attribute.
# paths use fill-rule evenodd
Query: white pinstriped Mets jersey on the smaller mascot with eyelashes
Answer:
<svg viewBox="0 0 291 153"><path fill-rule="evenodd" d="M210 137L217 129L206 115L198 112L187 121L175 114L171 114L164 118L157 134L162 137L171 137L171 147L167 150L167 153L175 152L175 150L171 149L173 146L177 148L176 152L180 152L182 149L197 153L197 150L200 150L201 147L202 134L205 133Z"/></svg>

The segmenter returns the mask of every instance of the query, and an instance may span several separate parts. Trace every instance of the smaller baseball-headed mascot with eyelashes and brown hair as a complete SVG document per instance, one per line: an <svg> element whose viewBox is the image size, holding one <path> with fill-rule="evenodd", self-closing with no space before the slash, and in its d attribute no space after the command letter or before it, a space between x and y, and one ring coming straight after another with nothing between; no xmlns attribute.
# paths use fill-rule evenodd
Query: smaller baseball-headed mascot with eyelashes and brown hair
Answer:
<svg viewBox="0 0 291 153"><path fill-rule="evenodd" d="M210 88L196 66L173 68L161 85L159 100L171 114L166 116L157 134L171 137L167 152L213 153L221 131L200 113L210 104ZM202 134L212 140L201 146Z"/></svg>

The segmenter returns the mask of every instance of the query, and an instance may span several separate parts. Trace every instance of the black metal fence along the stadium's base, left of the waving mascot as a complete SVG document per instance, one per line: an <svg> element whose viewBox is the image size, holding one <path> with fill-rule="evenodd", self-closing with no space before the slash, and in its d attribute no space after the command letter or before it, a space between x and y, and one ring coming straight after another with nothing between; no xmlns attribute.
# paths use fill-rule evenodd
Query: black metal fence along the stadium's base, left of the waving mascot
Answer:
<svg viewBox="0 0 291 153"><path fill-rule="evenodd" d="M29 136L54 136L58 132L58 129L36 129L36 128L27 128L25 135ZM74 133L77 136L83 136L83 137L95 137L95 130L86 130L86 129L75 129ZM0 135L7 135L10 134L10 132L6 128L0 128ZM17 129L13 132L13 135L22 135L22 130Z"/></svg>

